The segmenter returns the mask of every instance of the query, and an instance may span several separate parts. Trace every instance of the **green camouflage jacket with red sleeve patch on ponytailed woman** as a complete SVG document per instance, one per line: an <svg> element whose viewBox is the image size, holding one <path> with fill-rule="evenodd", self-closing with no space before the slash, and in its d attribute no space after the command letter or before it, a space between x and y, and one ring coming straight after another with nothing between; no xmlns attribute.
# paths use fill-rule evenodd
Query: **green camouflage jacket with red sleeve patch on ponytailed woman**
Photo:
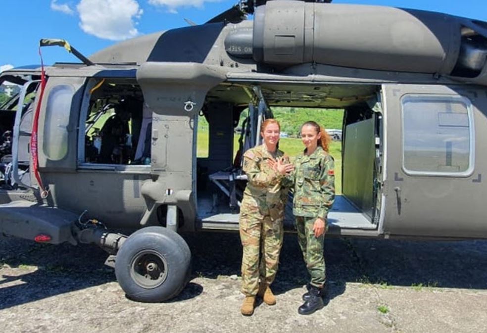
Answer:
<svg viewBox="0 0 487 333"><path fill-rule="evenodd" d="M326 218L335 200L335 164L333 157L318 146L309 156L296 157L294 171L282 181L294 186L294 216Z"/></svg>

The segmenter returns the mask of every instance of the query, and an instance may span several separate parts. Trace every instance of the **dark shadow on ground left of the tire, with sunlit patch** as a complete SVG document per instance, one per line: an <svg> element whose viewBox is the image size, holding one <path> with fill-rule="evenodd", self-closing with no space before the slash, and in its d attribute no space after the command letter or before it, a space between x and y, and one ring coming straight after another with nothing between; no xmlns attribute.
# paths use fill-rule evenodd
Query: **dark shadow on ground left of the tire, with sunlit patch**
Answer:
<svg viewBox="0 0 487 333"><path fill-rule="evenodd" d="M2 238L0 309L115 281L113 270L103 265L105 259L95 246Z"/></svg>

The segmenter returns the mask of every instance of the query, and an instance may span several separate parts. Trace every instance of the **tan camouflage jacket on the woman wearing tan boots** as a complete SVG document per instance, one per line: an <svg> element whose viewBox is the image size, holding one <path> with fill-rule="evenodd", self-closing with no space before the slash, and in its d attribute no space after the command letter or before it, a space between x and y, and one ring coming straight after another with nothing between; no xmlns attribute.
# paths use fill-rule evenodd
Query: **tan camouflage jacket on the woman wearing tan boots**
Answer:
<svg viewBox="0 0 487 333"><path fill-rule="evenodd" d="M284 153L281 150L277 149L274 154L271 154L264 144L248 149L244 153L243 170L248 181L244 191L243 206L268 209L276 204L284 204L288 192L281 186L284 176L275 172L267 164L268 159L282 156Z"/></svg>

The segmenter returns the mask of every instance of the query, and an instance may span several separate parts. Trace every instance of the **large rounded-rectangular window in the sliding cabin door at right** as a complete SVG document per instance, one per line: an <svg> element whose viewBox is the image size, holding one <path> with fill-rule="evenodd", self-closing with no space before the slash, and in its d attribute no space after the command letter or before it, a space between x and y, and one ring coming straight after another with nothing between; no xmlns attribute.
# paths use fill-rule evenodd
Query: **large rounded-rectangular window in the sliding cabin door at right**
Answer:
<svg viewBox="0 0 487 333"><path fill-rule="evenodd" d="M467 176L474 167L470 101L454 95L405 95L403 168L412 175Z"/></svg>

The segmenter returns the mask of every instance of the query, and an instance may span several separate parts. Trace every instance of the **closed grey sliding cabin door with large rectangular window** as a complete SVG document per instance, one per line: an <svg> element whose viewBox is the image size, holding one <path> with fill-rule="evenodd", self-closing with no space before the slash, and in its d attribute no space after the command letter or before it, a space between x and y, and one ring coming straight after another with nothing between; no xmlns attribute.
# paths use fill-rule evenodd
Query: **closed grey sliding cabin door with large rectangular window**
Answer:
<svg viewBox="0 0 487 333"><path fill-rule="evenodd" d="M386 236L487 237L487 95L384 85Z"/></svg>

